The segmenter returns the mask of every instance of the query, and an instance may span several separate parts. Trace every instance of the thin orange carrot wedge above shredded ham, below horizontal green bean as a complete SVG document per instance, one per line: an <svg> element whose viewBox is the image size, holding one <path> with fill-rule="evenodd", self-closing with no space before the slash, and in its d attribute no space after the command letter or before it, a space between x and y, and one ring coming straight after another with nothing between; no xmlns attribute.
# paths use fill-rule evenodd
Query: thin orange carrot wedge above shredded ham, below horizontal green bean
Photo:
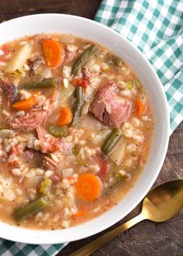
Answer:
<svg viewBox="0 0 183 256"><path fill-rule="evenodd" d="M41 94L40 91L33 92L33 94L29 97L29 99L20 100L15 104L13 104L12 107L17 110L30 109L37 104L36 97L40 94Z"/></svg>

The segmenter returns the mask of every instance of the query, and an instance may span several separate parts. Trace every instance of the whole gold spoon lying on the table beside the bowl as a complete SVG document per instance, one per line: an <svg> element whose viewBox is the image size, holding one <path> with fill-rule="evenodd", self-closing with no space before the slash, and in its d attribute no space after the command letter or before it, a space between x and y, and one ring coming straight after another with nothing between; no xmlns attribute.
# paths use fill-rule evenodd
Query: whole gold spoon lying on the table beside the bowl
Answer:
<svg viewBox="0 0 183 256"><path fill-rule="evenodd" d="M163 222L171 219L183 207L183 180L174 180L158 185L152 189L143 199L142 212L132 220L116 227L107 234L98 237L91 243L86 244L70 256L87 256L109 243L119 234L133 227L142 220Z"/></svg>

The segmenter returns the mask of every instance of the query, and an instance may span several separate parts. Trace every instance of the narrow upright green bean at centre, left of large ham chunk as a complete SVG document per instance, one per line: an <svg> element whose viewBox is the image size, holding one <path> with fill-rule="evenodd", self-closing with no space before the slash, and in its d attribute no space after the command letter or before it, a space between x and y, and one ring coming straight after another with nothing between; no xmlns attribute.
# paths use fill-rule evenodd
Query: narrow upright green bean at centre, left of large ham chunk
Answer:
<svg viewBox="0 0 183 256"><path fill-rule="evenodd" d="M79 122L81 114L81 106L83 104L83 88L81 86L75 88L76 100L73 106L73 119L71 126L76 126Z"/></svg>

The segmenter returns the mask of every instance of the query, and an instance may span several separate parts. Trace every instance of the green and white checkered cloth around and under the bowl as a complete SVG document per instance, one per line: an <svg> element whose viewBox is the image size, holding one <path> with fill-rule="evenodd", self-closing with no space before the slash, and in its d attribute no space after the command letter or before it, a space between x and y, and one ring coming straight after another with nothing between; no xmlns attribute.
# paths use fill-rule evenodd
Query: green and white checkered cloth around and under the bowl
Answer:
<svg viewBox="0 0 183 256"><path fill-rule="evenodd" d="M183 116L182 0L103 0L95 20L115 29L153 64L167 95L171 132ZM1 256L55 255L66 244L31 245L0 239Z"/></svg>

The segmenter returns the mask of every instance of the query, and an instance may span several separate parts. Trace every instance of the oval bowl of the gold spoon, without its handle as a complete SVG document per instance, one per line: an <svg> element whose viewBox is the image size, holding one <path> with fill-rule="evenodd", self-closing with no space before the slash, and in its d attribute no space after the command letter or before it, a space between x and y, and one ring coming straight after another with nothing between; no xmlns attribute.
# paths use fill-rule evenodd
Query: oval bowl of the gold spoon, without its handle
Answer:
<svg viewBox="0 0 183 256"><path fill-rule="evenodd" d="M166 182L150 190L143 199L144 219L163 222L171 219L183 207L183 180Z"/></svg>

